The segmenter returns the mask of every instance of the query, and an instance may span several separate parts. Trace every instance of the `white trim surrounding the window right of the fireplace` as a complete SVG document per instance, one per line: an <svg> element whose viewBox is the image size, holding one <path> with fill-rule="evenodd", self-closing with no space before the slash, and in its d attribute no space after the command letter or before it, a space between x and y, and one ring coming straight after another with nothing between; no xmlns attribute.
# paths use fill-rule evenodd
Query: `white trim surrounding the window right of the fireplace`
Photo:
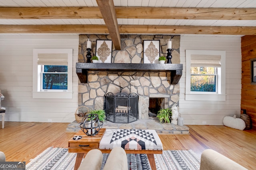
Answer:
<svg viewBox="0 0 256 170"><path fill-rule="evenodd" d="M217 94L190 92L191 55L220 55L221 67L217 68ZM185 100L195 101L226 101L226 51L215 50L186 50L186 93Z"/></svg>

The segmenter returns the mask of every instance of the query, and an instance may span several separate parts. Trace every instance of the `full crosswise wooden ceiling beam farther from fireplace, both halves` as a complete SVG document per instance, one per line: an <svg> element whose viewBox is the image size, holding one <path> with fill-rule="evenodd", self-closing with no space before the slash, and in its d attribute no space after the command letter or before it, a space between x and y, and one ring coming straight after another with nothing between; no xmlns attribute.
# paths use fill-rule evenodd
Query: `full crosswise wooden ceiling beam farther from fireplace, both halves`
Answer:
<svg viewBox="0 0 256 170"><path fill-rule="evenodd" d="M106 4L106 2L104 2ZM256 8L115 7L116 18L256 20ZM100 19L98 7L0 8L0 19Z"/></svg>

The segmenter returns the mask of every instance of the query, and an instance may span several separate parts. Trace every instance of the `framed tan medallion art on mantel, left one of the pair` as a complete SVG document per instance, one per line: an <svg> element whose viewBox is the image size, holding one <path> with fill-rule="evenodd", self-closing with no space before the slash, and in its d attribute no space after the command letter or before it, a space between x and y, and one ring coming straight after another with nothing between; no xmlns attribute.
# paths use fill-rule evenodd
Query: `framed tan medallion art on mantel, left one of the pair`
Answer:
<svg viewBox="0 0 256 170"><path fill-rule="evenodd" d="M96 40L96 56L98 63L111 63L112 40Z"/></svg>

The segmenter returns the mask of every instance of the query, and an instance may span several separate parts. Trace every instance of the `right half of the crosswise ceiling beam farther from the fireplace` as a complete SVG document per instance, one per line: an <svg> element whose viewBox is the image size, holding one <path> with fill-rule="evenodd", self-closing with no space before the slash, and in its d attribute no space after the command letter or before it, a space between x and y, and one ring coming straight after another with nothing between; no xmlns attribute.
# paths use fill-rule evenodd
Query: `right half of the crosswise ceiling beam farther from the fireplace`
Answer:
<svg viewBox="0 0 256 170"><path fill-rule="evenodd" d="M117 18L256 20L256 8L151 8L116 7Z"/></svg>

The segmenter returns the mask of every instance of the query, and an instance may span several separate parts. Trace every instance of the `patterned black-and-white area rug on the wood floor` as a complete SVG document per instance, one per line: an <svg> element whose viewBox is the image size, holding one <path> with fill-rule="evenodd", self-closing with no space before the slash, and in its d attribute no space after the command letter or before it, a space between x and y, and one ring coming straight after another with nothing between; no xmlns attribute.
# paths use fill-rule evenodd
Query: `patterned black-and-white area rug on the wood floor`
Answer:
<svg viewBox="0 0 256 170"><path fill-rule="evenodd" d="M102 168L108 154L103 154ZM154 154L157 170L199 170L200 158L192 150L163 150ZM26 164L26 170L74 170L76 153L49 147ZM128 170L151 170L146 154L127 154Z"/></svg>

